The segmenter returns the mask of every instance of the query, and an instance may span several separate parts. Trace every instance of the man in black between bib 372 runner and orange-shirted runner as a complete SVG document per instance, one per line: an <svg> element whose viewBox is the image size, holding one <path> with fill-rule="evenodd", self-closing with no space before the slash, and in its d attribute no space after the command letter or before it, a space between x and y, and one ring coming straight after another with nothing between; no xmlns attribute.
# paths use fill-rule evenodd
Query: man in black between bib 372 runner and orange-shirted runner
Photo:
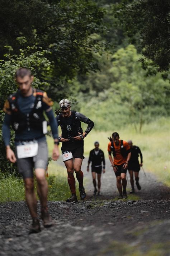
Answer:
<svg viewBox="0 0 170 256"><path fill-rule="evenodd" d="M100 187L101 187L101 171L102 166L101 162L103 162L103 173L105 173L105 159L104 152L99 149L99 142L94 143L95 148L90 151L87 171L89 171L89 165L91 163L91 172L93 177L93 185L94 185L94 196L98 192L98 196L100 195ZM98 175L98 190L96 189L96 174Z"/></svg>

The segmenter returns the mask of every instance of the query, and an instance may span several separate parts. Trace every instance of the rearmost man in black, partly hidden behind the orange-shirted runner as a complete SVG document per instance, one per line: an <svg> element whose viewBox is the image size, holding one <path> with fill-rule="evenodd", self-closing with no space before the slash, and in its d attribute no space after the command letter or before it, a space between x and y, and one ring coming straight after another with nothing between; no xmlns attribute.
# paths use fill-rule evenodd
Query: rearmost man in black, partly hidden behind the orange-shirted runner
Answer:
<svg viewBox="0 0 170 256"><path fill-rule="evenodd" d="M131 148L131 159L129 160L128 164L128 171L130 174L131 178L131 186L132 186L132 191L130 192L131 194L134 193L134 180L133 180L133 172L134 172L134 177L136 180L136 186L138 190L141 190L141 186L139 184L139 171L140 167L143 165L143 157L142 153L139 147L133 146L132 140L128 140L128 145ZM141 163L139 164L138 156L140 155L141 157Z"/></svg>

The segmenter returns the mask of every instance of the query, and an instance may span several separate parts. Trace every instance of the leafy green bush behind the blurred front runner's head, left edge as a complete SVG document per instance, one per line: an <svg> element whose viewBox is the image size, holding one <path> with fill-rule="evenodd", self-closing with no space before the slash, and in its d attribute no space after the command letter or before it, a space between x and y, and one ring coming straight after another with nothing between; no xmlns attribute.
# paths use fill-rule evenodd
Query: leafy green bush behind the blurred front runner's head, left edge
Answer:
<svg viewBox="0 0 170 256"><path fill-rule="evenodd" d="M11 46L6 46L8 53L5 54L6 60L0 61L0 108L3 109L3 105L7 97L17 91L17 85L14 80L16 69L19 67L28 67L34 74L33 86L40 89L44 89L48 86L48 82L45 81L45 77L48 77L51 63L44 56L50 54L47 50L42 50L37 46L28 46L25 50L20 49L20 54L12 54L13 49ZM2 124L4 120L4 113L0 111L0 170L2 172L15 172L16 164L6 161L5 147L2 138ZM14 150L14 132L11 131L11 148Z"/></svg>

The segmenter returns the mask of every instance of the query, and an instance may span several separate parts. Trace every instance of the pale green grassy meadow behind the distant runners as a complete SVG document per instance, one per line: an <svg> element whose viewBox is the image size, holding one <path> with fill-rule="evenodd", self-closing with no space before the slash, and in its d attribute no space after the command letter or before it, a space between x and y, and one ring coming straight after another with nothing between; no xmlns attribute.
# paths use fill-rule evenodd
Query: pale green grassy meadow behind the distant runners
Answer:
<svg viewBox="0 0 170 256"><path fill-rule="evenodd" d="M157 179L170 186L170 118L162 117L154 122L143 125L142 133L137 133L133 126L127 125L120 130L92 130L84 140L84 155L87 157L94 142L99 141L100 148L108 157L107 147L113 132L117 131L123 140L131 139L133 145L140 147L143 154L143 168L153 172ZM52 138L48 138L49 152L53 148ZM60 145L61 147L61 145Z"/></svg>

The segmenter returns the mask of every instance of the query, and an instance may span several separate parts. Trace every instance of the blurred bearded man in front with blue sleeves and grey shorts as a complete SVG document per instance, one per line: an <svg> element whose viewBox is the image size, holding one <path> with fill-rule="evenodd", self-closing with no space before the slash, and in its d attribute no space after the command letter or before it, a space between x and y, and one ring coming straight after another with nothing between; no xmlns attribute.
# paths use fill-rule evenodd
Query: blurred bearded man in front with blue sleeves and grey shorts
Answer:
<svg viewBox="0 0 170 256"><path fill-rule="evenodd" d="M57 122L52 112L53 102L41 90L32 88L33 76L30 69L19 68L15 74L19 90L10 95L5 102L5 120L3 124L3 138L6 146L6 158L15 163L22 174L25 185L25 198L32 216L33 223L30 233L41 231L37 216L37 199L34 192L33 168L37 180L37 192L41 202L41 218L44 227L53 225L47 208L48 183L45 169L48 162L48 150L45 133L46 121L43 111L49 118L54 149L52 159L59 157ZM10 125L15 130L15 153L10 148Z"/></svg>

